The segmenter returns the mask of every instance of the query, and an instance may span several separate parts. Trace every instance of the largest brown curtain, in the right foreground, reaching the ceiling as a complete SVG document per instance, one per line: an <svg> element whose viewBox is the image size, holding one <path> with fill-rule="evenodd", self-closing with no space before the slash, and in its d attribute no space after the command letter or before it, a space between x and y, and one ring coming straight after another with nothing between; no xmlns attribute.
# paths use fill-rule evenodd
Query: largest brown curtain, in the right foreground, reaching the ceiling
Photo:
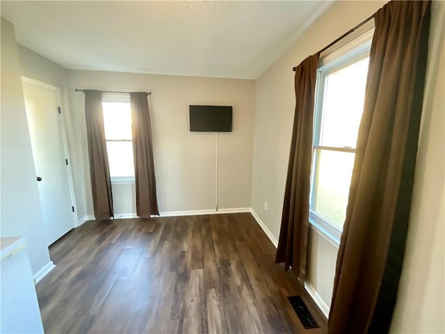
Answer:
<svg viewBox="0 0 445 334"><path fill-rule="evenodd" d="M429 1L389 2L375 14L330 334L389 331L410 214L429 26Z"/></svg>

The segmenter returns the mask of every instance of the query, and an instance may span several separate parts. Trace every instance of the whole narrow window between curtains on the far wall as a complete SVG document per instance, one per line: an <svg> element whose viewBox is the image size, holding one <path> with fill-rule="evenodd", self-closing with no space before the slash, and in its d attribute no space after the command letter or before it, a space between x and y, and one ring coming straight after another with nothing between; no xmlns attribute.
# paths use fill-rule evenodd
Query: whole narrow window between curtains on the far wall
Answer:
<svg viewBox="0 0 445 334"><path fill-rule="evenodd" d="M111 181L132 182L134 163L129 95L104 93L102 107Z"/></svg>

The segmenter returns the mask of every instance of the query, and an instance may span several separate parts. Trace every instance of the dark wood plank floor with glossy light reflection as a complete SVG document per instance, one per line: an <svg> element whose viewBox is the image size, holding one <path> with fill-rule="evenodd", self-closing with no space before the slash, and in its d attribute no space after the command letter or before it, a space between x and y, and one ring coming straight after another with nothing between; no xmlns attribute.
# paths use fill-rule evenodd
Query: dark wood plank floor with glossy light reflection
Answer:
<svg viewBox="0 0 445 334"><path fill-rule="evenodd" d="M323 333L303 330L296 280L248 213L88 221L50 254L46 333Z"/></svg>

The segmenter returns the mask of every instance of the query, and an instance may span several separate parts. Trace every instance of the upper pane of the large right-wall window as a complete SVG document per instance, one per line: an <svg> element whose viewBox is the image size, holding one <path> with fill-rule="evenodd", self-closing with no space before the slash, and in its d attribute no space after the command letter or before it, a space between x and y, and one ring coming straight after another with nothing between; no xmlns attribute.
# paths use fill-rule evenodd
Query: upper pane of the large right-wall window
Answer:
<svg viewBox="0 0 445 334"><path fill-rule="evenodd" d="M327 75L320 145L355 148L369 58Z"/></svg>

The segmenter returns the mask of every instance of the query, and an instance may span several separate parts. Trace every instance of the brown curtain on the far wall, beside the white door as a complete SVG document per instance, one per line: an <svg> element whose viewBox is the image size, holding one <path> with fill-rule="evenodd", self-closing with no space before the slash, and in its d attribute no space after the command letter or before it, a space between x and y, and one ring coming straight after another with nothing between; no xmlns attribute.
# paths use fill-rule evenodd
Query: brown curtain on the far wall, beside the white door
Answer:
<svg viewBox="0 0 445 334"><path fill-rule="evenodd" d="M95 218L103 221L113 216L113 195L106 152L102 92L84 90L84 93L92 204Z"/></svg>

